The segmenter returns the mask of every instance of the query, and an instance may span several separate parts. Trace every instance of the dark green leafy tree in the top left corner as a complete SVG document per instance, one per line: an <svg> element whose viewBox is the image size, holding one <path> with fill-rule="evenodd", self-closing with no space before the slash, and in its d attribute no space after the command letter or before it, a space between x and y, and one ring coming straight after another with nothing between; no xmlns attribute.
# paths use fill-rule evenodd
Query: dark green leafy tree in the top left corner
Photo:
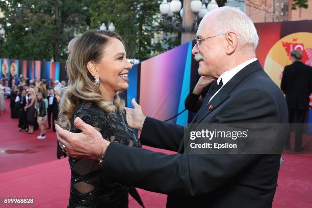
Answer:
<svg viewBox="0 0 312 208"><path fill-rule="evenodd" d="M88 10L79 0L8 0L0 8L3 57L11 59L64 61L68 41L88 23Z"/></svg>

